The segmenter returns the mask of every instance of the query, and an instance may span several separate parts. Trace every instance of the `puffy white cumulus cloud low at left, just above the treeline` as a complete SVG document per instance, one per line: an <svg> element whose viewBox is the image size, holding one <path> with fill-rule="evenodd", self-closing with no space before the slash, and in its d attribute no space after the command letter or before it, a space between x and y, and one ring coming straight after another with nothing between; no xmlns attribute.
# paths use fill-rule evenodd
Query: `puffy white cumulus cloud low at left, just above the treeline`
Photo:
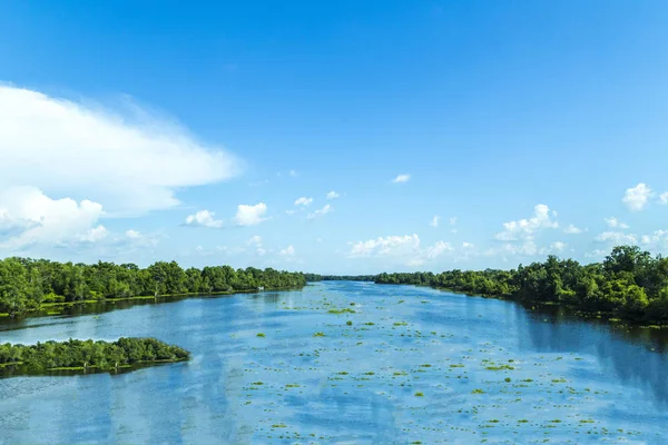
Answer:
<svg viewBox="0 0 668 445"><path fill-rule="evenodd" d="M51 199L35 187L7 188L0 191L0 248L99 241L108 234L97 225L102 215L102 206L87 199Z"/></svg>

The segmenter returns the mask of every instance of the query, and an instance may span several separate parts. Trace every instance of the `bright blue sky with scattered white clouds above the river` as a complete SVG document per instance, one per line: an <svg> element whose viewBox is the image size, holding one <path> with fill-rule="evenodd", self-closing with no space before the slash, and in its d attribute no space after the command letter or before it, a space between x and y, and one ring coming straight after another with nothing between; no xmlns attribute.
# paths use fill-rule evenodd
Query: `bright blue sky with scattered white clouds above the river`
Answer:
<svg viewBox="0 0 668 445"><path fill-rule="evenodd" d="M366 274L666 254L667 20L0 2L0 256Z"/></svg>

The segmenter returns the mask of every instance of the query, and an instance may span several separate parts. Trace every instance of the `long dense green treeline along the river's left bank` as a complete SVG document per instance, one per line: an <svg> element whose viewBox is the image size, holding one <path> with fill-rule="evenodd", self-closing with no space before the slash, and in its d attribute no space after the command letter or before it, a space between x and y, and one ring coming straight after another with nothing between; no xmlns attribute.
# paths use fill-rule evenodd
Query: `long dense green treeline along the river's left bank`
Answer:
<svg viewBox="0 0 668 445"><path fill-rule="evenodd" d="M299 288L302 273L237 269L215 266L183 269L176 261L158 261L147 268L134 264L94 265L57 263L47 259L0 260L0 313L17 315L43 304L104 300L136 296L209 294Z"/></svg>

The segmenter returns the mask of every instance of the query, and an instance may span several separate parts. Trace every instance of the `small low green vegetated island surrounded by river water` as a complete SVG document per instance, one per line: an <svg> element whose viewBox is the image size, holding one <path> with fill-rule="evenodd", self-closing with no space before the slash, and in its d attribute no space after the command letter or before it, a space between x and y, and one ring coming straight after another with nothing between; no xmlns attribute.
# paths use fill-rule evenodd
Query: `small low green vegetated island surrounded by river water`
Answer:
<svg viewBox="0 0 668 445"><path fill-rule="evenodd" d="M121 372L163 363L184 362L190 354L155 338L45 342L0 345L0 376L59 373Z"/></svg>

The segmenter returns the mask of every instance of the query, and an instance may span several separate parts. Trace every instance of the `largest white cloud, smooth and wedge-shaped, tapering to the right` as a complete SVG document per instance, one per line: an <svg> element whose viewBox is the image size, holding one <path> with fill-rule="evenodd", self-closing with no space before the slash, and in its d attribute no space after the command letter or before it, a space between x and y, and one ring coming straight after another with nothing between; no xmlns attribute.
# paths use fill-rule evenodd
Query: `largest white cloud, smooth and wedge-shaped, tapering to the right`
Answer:
<svg viewBox="0 0 668 445"><path fill-rule="evenodd" d="M120 116L0 86L0 189L30 185L128 215L176 206L176 189L240 172L232 155L130 102L128 108L131 112Z"/></svg>

